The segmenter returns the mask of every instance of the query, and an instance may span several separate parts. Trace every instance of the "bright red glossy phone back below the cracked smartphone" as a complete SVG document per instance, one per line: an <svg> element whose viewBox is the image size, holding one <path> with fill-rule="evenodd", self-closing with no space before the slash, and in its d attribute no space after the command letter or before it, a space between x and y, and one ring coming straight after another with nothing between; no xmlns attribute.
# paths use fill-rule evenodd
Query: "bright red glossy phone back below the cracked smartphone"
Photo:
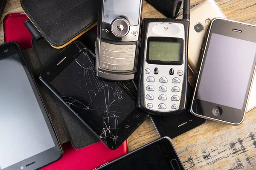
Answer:
<svg viewBox="0 0 256 170"><path fill-rule="evenodd" d="M82 149L73 148L69 142L62 146L62 158L41 170L93 170L128 153L127 140L116 150L109 149L103 142Z"/></svg>

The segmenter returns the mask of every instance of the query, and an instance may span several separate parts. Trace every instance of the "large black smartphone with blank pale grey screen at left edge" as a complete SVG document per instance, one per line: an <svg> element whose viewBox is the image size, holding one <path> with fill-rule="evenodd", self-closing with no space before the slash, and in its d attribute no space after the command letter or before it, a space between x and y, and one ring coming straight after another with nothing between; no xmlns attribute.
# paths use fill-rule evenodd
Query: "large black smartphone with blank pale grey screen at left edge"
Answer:
<svg viewBox="0 0 256 170"><path fill-rule="evenodd" d="M0 94L0 170L35 170L60 159L60 143L16 42L0 45Z"/></svg>

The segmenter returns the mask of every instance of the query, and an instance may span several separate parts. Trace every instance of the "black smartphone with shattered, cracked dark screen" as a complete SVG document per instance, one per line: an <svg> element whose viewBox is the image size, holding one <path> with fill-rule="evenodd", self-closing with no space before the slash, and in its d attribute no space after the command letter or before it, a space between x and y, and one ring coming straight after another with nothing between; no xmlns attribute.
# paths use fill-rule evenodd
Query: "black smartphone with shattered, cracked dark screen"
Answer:
<svg viewBox="0 0 256 170"><path fill-rule="evenodd" d="M96 77L95 55L79 41L65 48L40 79L110 149L148 117L120 82Z"/></svg>

